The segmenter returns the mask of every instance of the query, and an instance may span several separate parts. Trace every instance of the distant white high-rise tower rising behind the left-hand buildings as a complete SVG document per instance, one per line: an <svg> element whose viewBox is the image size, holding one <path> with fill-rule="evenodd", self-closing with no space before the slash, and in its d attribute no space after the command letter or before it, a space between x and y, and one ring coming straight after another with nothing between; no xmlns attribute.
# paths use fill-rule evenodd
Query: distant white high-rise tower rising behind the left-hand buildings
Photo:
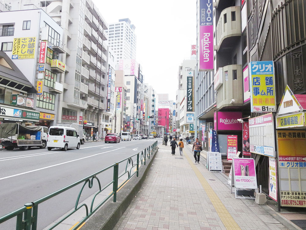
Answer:
<svg viewBox="0 0 306 230"><path fill-rule="evenodd" d="M119 59L136 59L136 35L135 25L129 18L119 19L116 23L110 23L106 30L109 45Z"/></svg>

